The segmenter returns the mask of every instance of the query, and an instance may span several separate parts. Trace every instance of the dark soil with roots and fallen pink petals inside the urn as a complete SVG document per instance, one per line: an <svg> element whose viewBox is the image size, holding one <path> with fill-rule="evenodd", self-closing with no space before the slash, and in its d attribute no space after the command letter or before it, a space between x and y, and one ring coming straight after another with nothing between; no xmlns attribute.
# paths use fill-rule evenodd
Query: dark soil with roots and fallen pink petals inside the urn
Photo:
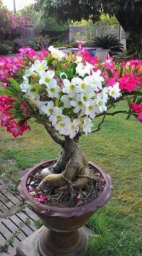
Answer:
<svg viewBox="0 0 142 256"><path fill-rule="evenodd" d="M58 192L54 187L40 191L38 189L39 183L45 178L43 169L45 174L46 172L52 173L52 165L43 164L36 173L29 176L26 188L34 200L51 207L67 208L87 204L94 201L105 187L102 173L90 167L91 178L85 187L74 189L70 183L69 189L63 192Z"/></svg>

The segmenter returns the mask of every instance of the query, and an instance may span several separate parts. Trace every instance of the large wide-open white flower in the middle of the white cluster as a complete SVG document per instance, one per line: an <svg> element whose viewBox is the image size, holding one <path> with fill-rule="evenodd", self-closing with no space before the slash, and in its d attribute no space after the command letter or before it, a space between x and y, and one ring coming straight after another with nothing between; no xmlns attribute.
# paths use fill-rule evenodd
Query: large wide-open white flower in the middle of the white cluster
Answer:
<svg viewBox="0 0 142 256"><path fill-rule="evenodd" d="M74 77L70 82L68 79L63 80L63 92L67 93L69 97L75 96L75 93L79 93L79 83L82 83L81 78Z"/></svg>

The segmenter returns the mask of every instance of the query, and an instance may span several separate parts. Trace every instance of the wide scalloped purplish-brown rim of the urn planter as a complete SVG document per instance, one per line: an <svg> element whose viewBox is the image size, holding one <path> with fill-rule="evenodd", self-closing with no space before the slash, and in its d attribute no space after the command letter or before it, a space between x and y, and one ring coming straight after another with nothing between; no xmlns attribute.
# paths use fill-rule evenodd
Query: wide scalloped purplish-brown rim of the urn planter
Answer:
<svg viewBox="0 0 142 256"><path fill-rule="evenodd" d="M25 172L23 172L22 177L20 178L20 183L18 186L18 192L20 195L20 198L22 198L22 201L25 204L28 204L31 206L32 210L34 210L36 213L40 214L46 214L47 216L58 216L58 217L73 217L73 216L81 216L84 213L87 212L94 212L98 208L102 207L108 199L110 199L113 186L111 182L110 175L106 174L102 168L97 166L92 161L89 161L89 165L94 167L94 169L99 170L99 172L103 175L103 178L105 180L105 187L102 191L102 193L94 199L94 201L88 202L85 205L81 205L79 207L68 207L68 208L59 208L59 207L51 207L48 205L41 204L40 202L37 202L34 200L30 194L28 193L28 190L26 189L26 182L28 181L29 175L32 172L36 172L36 170L39 169L43 164L52 164L54 160L43 160L39 164L34 165L33 167L26 169Z"/></svg>

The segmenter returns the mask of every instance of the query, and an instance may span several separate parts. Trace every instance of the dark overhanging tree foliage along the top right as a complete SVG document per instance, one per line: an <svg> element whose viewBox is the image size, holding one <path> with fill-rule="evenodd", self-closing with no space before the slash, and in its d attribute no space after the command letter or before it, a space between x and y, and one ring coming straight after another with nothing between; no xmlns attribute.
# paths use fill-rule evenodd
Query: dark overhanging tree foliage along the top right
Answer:
<svg viewBox="0 0 142 256"><path fill-rule="evenodd" d="M43 10L56 14L60 19L81 20L91 18L93 22L100 19L101 13L114 14L128 36L141 34L142 0L37 0ZM129 45L129 41L128 41Z"/></svg>

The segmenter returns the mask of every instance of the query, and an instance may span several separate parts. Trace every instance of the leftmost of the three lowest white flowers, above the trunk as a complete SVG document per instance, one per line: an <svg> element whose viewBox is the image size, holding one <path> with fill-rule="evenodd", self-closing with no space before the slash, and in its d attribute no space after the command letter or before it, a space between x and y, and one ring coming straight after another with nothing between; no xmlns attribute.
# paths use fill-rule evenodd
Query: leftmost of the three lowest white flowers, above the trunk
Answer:
<svg viewBox="0 0 142 256"><path fill-rule="evenodd" d="M58 122L55 126L55 130L58 131L60 135L69 136L70 134L71 121L69 117L65 117L61 122Z"/></svg>

